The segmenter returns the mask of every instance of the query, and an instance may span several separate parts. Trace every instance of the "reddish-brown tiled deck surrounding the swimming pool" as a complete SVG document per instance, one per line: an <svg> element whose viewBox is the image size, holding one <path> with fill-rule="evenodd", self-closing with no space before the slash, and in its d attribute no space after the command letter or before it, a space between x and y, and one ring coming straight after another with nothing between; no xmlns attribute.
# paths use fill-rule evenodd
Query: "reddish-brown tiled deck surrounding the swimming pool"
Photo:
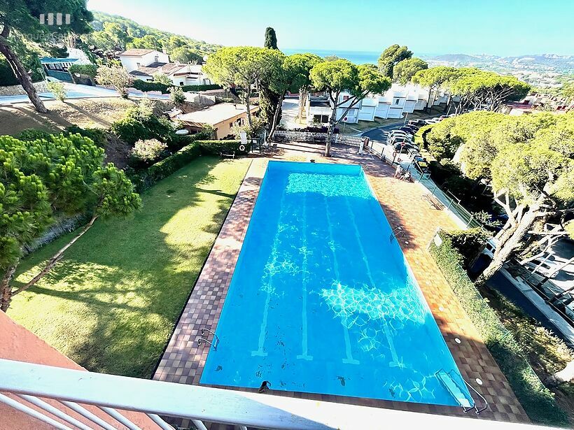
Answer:
<svg viewBox="0 0 574 430"><path fill-rule="evenodd" d="M300 145L295 151L281 150L269 157L253 158L153 379L190 385L200 384L209 348L204 345L198 346L196 339L200 337L202 328L207 327L215 331L217 327L268 160L316 159L317 162L356 163L363 166L367 173L370 185L377 194L391 227L400 225L405 229L405 234L400 237L400 246L463 378L489 402L489 409L481 413L478 418L504 422L530 422L496 361L491 357L482 338L426 250L426 245L438 227L457 228L449 214L443 210L432 209L421 200L421 196L426 192L422 185L394 179L394 169L368 154L358 155L356 148L333 148L332 157L323 158L317 146L307 145L307 148L304 148L305 144ZM482 386L477 385L476 378L483 381ZM254 391L237 387L226 388ZM462 408L451 406L300 392L269 393L412 412L464 415ZM465 416L477 417L474 413ZM216 429L218 426L211 428Z"/></svg>

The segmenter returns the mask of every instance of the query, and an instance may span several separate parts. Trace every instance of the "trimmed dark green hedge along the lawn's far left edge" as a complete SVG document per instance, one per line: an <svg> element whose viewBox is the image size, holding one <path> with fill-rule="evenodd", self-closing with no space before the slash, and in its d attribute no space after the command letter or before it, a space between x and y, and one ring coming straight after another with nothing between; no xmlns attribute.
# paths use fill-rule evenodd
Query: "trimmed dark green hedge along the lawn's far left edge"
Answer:
<svg viewBox="0 0 574 430"><path fill-rule="evenodd" d="M241 142L239 141L196 141L162 159L162 161L149 166L145 171L129 175L130 180L132 180L136 191L142 192L186 166L202 154L219 155L221 150L246 154L248 148L244 151L239 151L238 147L240 144Z"/></svg>

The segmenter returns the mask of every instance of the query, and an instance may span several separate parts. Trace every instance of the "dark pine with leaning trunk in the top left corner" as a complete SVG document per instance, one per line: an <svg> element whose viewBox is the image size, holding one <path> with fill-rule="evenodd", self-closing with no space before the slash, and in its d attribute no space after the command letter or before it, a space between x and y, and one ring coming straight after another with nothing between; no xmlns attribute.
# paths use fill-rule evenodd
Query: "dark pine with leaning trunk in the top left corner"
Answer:
<svg viewBox="0 0 574 430"><path fill-rule="evenodd" d="M61 25L41 23L41 14L54 12L69 14L70 23ZM38 112L45 113L48 110L31 83L29 71L22 65L13 49L15 39L21 41L26 35L34 34L36 37L41 36L45 41L44 44L50 44L50 35L54 33L68 34L71 31L76 34L87 33L90 31L92 19L92 13L87 10L85 1L82 0L0 0L0 52L6 57L14 76Z"/></svg>

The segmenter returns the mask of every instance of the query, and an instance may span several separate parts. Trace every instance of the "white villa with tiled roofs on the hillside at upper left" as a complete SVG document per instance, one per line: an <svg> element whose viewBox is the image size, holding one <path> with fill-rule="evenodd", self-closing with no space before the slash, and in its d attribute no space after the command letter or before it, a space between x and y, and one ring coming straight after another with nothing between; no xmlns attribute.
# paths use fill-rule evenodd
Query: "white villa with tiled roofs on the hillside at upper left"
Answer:
<svg viewBox="0 0 574 430"><path fill-rule="evenodd" d="M209 85L209 77L202 72L201 64L169 62L165 52L150 49L130 49L122 52L120 62L135 79L151 82L156 73L172 80L173 85Z"/></svg>

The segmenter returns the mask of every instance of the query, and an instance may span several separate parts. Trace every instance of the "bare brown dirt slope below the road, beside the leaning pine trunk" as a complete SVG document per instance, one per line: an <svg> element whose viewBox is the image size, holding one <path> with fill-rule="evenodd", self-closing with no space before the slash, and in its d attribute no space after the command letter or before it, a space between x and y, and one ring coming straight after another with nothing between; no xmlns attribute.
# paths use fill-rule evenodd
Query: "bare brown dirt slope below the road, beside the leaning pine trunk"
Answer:
<svg viewBox="0 0 574 430"><path fill-rule="evenodd" d="M154 100L155 111L162 113L173 107L171 101ZM120 120L125 111L136 106L137 100L104 97L98 99L69 99L45 101L50 112L41 114L30 103L14 103L0 106L0 135L15 135L25 129L59 131L71 125L108 129L112 122Z"/></svg>

